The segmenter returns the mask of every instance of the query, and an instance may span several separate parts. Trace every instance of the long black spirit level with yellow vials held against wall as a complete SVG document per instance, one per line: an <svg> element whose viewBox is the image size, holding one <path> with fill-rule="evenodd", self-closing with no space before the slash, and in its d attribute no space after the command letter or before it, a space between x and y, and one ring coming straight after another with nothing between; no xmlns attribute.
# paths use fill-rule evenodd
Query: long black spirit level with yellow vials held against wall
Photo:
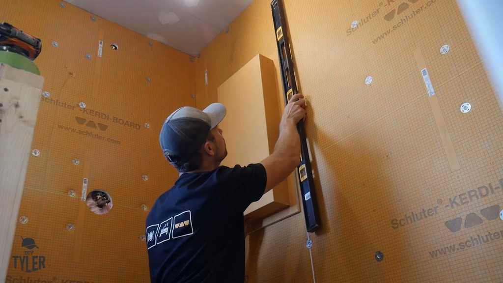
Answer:
<svg viewBox="0 0 503 283"><path fill-rule="evenodd" d="M285 93L285 105L290 98L297 93L297 85L295 83L295 75L293 73L293 62L286 33L286 21L283 14L283 3L281 0L274 0L271 3L273 12L274 28L276 30L276 43L278 45L278 55L281 66L281 78L283 81L283 90ZM316 203L316 194L314 192L314 181L311 171L311 163L309 160L309 152L304 130L304 122L300 121L297 124L297 130L300 135L301 145L301 162L298 166L300 191L302 195L302 206L304 210L304 218L306 221L306 229L308 232L318 230L321 225L319 223L319 213Z"/></svg>

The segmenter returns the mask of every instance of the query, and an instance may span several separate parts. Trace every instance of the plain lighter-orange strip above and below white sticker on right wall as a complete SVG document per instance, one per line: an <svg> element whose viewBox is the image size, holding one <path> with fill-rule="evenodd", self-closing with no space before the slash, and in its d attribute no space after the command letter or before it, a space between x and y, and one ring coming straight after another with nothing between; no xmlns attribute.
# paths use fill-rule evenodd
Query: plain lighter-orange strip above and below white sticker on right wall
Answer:
<svg viewBox="0 0 503 283"><path fill-rule="evenodd" d="M419 68L420 76L423 80L423 74L421 73L421 71L426 68L426 62L425 57L423 56L423 52L421 51L421 48L417 48L414 50L414 57L417 63L417 67ZM434 86L431 86L431 88L433 87ZM429 90L427 89L427 91ZM454 150L451 134L449 133L449 129L447 128L447 123L445 121L444 114L442 114L442 109L440 108L440 102L437 99L436 95L432 96L428 95L427 97L428 101L430 102L430 106L432 108L435 123L437 124L440 140L442 141L442 145L444 146L447 161L449 162L449 166L451 167L451 172L454 172L456 170L459 170L461 168L461 165L459 164L458 156L456 154L456 151Z"/></svg>

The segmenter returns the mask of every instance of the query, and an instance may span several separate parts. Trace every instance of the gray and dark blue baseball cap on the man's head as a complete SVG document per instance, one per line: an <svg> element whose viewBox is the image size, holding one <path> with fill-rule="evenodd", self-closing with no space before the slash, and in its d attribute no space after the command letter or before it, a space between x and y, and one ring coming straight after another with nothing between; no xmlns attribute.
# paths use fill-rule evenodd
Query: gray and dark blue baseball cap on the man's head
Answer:
<svg viewBox="0 0 503 283"><path fill-rule="evenodd" d="M159 135L160 147L167 160L175 167L190 161L225 114L225 106L221 103L212 103L202 111L184 106L171 113Z"/></svg>

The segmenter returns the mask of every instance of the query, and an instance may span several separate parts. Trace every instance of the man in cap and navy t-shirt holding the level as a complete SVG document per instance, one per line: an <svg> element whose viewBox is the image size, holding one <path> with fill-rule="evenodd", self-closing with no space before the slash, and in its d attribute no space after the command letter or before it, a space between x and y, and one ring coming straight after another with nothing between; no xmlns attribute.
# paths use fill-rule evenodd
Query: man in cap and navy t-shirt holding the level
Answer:
<svg viewBox="0 0 503 283"><path fill-rule="evenodd" d="M274 152L260 163L233 168L220 166L227 156L218 128L226 113L222 104L203 111L182 107L166 118L160 146L179 179L146 219L152 283L244 281L243 212L299 165L296 125L305 118L304 108L304 97L294 95Z"/></svg>

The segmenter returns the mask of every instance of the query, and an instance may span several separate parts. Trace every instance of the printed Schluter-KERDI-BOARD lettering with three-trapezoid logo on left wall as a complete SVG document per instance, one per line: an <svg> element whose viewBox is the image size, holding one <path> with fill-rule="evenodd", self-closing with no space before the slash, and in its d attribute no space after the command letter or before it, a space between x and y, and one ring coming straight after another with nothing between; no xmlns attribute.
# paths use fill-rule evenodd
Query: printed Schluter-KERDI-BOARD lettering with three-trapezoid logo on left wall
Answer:
<svg viewBox="0 0 503 283"><path fill-rule="evenodd" d="M43 96L41 96L40 101L52 104L52 105L54 105L56 107L61 107L61 108L65 108L65 109L69 109L69 110L73 110L73 111L74 110L78 110L78 111L82 112L82 114L89 115L89 116L95 117L95 118L99 118L102 121L112 122L112 123L115 123L115 124L126 126L128 128L133 128L133 129L136 129L136 130L141 129L141 126L138 123L134 123L134 122L128 121L126 119L122 119L122 118L117 118L115 116L110 116L107 113L99 112L99 111L96 111L94 109L89 109L87 107L86 108L80 108L78 105L74 106L74 105L68 104L66 102L59 101L57 99L54 100L53 98L43 97ZM86 120L86 119L85 118L81 118L81 117L75 117L75 120L77 121L77 123L83 124L85 122L81 123L81 121ZM86 125L89 126L89 127L94 127L94 128L96 128L96 126L98 126L101 130L106 130L108 128L108 125L105 125L103 123L96 123L95 121L89 121L88 124L86 124Z"/></svg>

